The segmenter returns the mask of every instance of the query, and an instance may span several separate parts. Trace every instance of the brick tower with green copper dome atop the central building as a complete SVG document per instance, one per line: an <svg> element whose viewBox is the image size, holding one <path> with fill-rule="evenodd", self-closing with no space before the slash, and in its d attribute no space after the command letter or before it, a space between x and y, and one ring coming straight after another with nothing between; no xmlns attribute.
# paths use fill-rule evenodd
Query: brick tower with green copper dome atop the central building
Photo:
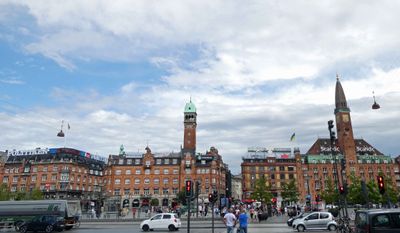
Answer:
<svg viewBox="0 0 400 233"><path fill-rule="evenodd" d="M192 100L185 105L183 124L185 127L183 135L183 151L190 152L194 155L196 152L197 113L196 106L192 103Z"/></svg>

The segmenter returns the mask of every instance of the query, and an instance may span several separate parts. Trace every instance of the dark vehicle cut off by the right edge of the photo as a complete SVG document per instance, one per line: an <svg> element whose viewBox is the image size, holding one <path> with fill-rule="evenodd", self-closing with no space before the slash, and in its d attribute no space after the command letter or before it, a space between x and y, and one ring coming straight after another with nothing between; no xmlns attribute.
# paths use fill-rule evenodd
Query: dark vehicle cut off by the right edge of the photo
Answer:
<svg viewBox="0 0 400 233"><path fill-rule="evenodd" d="M357 233L400 233L400 210L359 210L354 224Z"/></svg>

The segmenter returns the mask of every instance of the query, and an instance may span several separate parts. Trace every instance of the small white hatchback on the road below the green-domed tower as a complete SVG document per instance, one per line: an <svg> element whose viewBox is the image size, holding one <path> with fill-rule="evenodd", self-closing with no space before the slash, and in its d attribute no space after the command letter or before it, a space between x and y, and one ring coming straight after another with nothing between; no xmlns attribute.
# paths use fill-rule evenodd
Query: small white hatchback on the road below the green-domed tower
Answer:
<svg viewBox="0 0 400 233"><path fill-rule="evenodd" d="M156 214L150 219L142 221L140 228L143 231L149 231L154 229L168 229L169 231L179 230L181 227L181 220L175 213L162 213Z"/></svg>

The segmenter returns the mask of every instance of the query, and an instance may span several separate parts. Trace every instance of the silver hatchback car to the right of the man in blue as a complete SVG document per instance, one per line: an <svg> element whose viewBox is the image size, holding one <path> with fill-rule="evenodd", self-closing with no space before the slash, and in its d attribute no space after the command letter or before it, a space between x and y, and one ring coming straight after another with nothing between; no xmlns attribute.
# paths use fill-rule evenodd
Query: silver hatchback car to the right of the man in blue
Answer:
<svg viewBox="0 0 400 233"><path fill-rule="evenodd" d="M333 218L333 215L329 212L313 212L298 218L293 221L293 229L297 231L305 230L329 230L335 231L337 223Z"/></svg>

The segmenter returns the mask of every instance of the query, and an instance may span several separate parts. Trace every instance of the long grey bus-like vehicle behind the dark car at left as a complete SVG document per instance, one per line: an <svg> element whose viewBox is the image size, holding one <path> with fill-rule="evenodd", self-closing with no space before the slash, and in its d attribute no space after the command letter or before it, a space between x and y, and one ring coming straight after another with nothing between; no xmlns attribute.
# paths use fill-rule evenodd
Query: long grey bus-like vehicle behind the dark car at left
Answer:
<svg viewBox="0 0 400 233"><path fill-rule="evenodd" d="M39 200L0 201L0 225L15 226L35 216L54 215L63 217L65 230L80 226L81 206L79 201Z"/></svg>

